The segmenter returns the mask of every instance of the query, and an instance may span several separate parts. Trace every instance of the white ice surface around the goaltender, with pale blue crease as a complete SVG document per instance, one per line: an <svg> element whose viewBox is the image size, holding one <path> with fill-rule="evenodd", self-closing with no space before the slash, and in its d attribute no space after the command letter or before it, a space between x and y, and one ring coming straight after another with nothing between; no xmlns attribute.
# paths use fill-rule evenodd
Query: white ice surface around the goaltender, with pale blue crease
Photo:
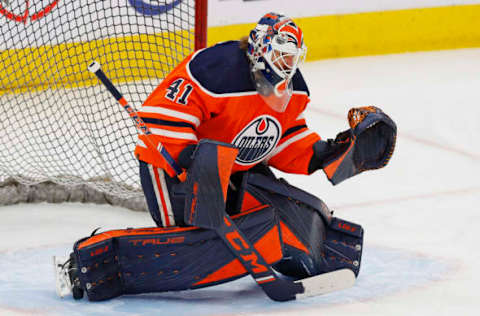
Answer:
<svg viewBox="0 0 480 316"><path fill-rule="evenodd" d="M331 186L322 172L281 174L365 229L356 285L270 301L249 278L197 291L107 302L55 295L52 255L94 228L145 227L146 213L81 204L0 208L0 315L478 315L480 50L308 63L308 123L347 128L352 106L377 105L398 125L391 163Z"/></svg>

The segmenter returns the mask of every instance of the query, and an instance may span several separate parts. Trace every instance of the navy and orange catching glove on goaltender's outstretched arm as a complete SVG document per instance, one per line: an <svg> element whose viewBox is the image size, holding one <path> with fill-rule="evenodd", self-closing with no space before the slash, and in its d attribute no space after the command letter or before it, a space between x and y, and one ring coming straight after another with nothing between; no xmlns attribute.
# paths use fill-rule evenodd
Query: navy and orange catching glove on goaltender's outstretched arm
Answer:
<svg viewBox="0 0 480 316"><path fill-rule="evenodd" d="M309 172L323 169L334 185L365 170L386 166L395 149L397 126L381 109L350 109L348 122L350 129L339 133L335 140L313 145Z"/></svg>

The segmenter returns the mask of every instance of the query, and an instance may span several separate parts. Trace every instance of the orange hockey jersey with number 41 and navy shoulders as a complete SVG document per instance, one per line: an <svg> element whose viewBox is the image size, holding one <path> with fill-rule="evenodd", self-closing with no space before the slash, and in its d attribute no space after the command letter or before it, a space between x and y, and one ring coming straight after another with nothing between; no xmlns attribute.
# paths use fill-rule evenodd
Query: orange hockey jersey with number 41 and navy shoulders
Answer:
<svg viewBox="0 0 480 316"><path fill-rule="evenodd" d="M312 145L320 137L310 131L303 111L309 92L299 70L293 95L283 113L272 110L255 89L249 61L238 41L197 51L179 64L152 92L138 111L154 134L177 159L188 145L208 138L239 148L232 172L266 163L290 173L308 173ZM138 159L155 161L139 136Z"/></svg>

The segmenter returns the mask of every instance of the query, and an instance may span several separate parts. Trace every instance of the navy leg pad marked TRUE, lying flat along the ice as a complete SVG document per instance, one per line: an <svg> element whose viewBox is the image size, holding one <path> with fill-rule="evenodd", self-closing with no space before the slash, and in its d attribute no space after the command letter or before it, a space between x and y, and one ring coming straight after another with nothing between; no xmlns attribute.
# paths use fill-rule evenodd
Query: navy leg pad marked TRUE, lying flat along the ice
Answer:
<svg viewBox="0 0 480 316"><path fill-rule="evenodd" d="M278 217L261 206L232 217L269 263L282 256ZM214 231L196 227L107 231L79 240L74 254L89 300L219 284L247 272Z"/></svg>

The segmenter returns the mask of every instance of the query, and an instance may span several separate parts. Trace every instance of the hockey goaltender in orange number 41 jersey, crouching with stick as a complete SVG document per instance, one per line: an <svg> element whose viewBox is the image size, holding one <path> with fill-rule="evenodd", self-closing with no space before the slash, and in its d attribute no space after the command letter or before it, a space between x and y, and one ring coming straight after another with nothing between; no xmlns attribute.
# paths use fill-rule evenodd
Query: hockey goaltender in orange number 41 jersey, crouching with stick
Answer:
<svg viewBox="0 0 480 316"><path fill-rule="evenodd" d="M248 37L180 63L135 114L148 131L135 155L158 227L78 240L68 260L56 258L58 294L99 301L246 274L276 301L353 285L362 227L333 217L270 167L322 169L335 185L385 166L396 125L377 107L352 108L350 129L322 140L303 114L310 93L298 65L306 52L298 25L268 13ZM115 89L99 68L92 72Z"/></svg>

